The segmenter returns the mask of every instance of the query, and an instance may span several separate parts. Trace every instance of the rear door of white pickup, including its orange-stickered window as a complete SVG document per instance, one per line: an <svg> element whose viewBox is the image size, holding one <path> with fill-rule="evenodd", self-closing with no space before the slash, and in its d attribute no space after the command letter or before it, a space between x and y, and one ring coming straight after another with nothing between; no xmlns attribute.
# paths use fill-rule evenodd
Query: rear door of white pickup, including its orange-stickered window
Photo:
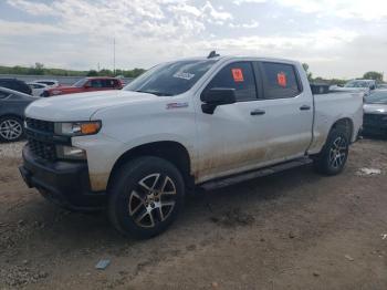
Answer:
<svg viewBox="0 0 387 290"><path fill-rule="evenodd" d="M312 141L311 90L302 86L297 68L293 64L257 64L263 89L259 108L265 112L259 125L265 127L268 158L280 162L303 156Z"/></svg>

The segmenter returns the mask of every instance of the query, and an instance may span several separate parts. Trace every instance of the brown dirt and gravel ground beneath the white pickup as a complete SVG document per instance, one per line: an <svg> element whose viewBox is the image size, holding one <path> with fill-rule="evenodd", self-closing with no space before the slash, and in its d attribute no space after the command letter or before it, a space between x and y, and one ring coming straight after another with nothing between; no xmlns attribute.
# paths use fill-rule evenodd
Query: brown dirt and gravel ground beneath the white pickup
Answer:
<svg viewBox="0 0 387 290"><path fill-rule="evenodd" d="M386 141L354 145L339 176L304 166L198 194L146 241L28 189L20 147L0 145L0 289L387 289Z"/></svg>

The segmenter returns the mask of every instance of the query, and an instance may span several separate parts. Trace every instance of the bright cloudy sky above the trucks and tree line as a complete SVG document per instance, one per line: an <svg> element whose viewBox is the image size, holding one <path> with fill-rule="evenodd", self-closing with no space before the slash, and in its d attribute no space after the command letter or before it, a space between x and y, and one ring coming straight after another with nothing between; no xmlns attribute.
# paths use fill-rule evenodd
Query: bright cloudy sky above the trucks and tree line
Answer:
<svg viewBox="0 0 387 290"><path fill-rule="evenodd" d="M0 64L148 69L207 55L306 62L314 76L386 72L386 0L0 0Z"/></svg>

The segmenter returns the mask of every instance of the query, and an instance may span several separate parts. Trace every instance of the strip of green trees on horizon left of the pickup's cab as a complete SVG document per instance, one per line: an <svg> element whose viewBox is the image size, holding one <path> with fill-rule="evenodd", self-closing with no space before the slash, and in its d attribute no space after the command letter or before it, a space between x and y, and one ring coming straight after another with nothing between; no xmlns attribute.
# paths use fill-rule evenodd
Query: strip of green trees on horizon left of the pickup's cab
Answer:
<svg viewBox="0 0 387 290"><path fill-rule="evenodd" d="M63 69L49 69L43 63L36 62L33 66L0 66L0 74L19 74L19 75L55 75L55 76L117 76L123 75L125 77L136 77L140 75L145 70L112 70L102 69L90 71L74 71Z"/></svg>

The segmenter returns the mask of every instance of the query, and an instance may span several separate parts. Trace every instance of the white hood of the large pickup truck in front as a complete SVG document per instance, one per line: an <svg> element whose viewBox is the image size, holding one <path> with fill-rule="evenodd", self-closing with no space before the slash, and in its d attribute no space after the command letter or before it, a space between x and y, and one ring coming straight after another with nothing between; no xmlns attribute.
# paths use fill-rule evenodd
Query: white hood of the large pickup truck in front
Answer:
<svg viewBox="0 0 387 290"><path fill-rule="evenodd" d="M158 99L154 94L130 91L98 91L40 99L25 110L25 116L53 121L87 121L102 108L149 102Z"/></svg>

